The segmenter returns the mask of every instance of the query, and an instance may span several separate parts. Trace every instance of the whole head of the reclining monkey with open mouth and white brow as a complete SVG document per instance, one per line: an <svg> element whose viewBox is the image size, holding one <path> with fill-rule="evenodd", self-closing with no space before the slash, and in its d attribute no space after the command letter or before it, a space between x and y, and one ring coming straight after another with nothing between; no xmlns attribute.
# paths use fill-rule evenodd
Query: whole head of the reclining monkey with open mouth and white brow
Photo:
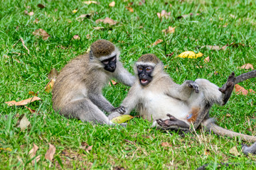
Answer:
<svg viewBox="0 0 256 170"><path fill-rule="evenodd" d="M138 75L139 83L142 86L148 85L154 75L163 70L164 64L153 54L142 55L134 65L134 73Z"/></svg>

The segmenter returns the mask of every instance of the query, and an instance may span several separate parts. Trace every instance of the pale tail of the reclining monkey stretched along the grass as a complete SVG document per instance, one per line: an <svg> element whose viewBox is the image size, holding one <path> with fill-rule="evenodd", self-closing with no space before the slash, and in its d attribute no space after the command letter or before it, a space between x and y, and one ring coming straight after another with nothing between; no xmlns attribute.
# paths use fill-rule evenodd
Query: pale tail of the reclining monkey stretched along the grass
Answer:
<svg viewBox="0 0 256 170"><path fill-rule="evenodd" d="M208 130L213 131L217 135L228 136L228 137L241 137L241 140L243 140L243 141L256 142L256 137L255 136L244 135L242 133L233 132L231 130L227 130L225 128L221 128L220 126L218 126L218 125L216 125L214 123L214 119L213 118L209 118L209 119L203 121L203 125Z"/></svg>

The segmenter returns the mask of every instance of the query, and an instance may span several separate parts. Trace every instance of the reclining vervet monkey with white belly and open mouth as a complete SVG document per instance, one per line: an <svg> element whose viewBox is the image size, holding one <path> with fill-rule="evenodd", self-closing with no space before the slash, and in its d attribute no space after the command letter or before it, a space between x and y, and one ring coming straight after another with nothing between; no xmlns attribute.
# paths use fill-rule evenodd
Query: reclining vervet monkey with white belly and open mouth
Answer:
<svg viewBox="0 0 256 170"><path fill-rule="evenodd" d="M232 73L221 88L206 79L187 80L179 85L164 72L164 64L152 54L139 57L134 64L134 73L137 81L121 104L125 108L125 114L136 108L142 118L153 121L153 127L176 130L189 130L191 125L198 128L201 123L209 130L217 128L212 120L206 120L210 106L213 103L225 105L235 83L256 77L255 72L252 72L252 77L238 77L238 81L235 81L235 74ZM240 136L243 140L256 141L256 137L230 130L217 134Z"/></svg>

